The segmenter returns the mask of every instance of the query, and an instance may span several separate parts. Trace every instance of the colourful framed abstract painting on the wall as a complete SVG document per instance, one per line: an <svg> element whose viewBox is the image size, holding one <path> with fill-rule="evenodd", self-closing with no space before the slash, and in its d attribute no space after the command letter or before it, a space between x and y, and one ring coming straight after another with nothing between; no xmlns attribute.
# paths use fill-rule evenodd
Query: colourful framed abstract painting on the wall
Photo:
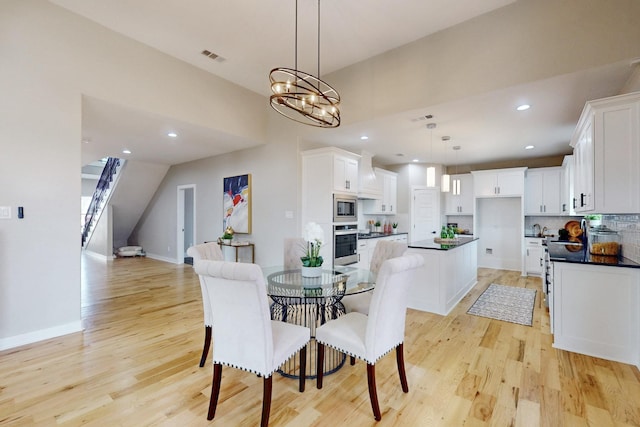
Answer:
<svg viewBox="0 0 640 427"><path fill-rule="evenodd" d="M223 178L223 230L251 233L251 174Z"/></svg>

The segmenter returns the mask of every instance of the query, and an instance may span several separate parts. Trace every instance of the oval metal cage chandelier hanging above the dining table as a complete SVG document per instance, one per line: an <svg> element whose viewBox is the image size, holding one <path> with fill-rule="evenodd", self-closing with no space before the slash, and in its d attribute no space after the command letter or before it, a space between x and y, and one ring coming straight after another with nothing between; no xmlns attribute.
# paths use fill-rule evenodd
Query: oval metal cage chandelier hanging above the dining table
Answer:
<svg viewBox="0 0 640 427"><path fill-rule="evenodd" d="M340 126L340 95L320 79L320 0L318 0L318 76L298 70L298 0L295 20L295 69L274 68L271 80L271 107L283 116L306 125Z"/></svg>

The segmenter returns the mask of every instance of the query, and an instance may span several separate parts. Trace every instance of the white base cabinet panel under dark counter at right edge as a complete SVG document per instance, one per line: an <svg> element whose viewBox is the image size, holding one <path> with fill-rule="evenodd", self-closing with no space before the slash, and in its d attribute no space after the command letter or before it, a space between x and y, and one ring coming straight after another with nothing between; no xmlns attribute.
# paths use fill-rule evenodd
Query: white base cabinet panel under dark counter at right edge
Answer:
<svg viewBox="0 0 640 427"><path fill-rule="evenodd" d="M640 270L553 263L553 346L640 365Z"/></svg>

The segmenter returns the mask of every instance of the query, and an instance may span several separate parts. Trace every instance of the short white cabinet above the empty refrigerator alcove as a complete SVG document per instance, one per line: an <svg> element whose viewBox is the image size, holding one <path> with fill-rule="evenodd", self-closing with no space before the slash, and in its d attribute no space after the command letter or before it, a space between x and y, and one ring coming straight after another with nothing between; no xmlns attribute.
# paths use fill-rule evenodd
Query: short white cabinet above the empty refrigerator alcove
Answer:
<svg viewBox="0 0 640 427"><path fill-rule="evenodd" d="M524 194L524 171L527 168L472 171L476 197L518 197Z"/></svg>

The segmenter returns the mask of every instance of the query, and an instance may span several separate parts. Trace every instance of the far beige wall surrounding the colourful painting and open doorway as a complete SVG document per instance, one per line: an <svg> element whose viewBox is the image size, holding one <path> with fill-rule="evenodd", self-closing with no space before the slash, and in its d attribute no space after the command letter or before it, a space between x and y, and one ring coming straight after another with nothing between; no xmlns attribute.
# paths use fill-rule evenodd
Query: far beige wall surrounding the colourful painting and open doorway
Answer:
<svg viewBox="0 0 640 427"><path fill-rule="evenodd" d="M274 116L270 139L278 142L235 153L183 163L169 169L149 203L134 239L147 256L175 260L178 185L196 185L196 242L216 240L222 235L222 179L252 175L252 234L236 239L255 243L256 263L280 265L286 237L301 237L299 223L300 179L297 134L302 125ZM292 211L293 218L285 218Z"/></svg>

